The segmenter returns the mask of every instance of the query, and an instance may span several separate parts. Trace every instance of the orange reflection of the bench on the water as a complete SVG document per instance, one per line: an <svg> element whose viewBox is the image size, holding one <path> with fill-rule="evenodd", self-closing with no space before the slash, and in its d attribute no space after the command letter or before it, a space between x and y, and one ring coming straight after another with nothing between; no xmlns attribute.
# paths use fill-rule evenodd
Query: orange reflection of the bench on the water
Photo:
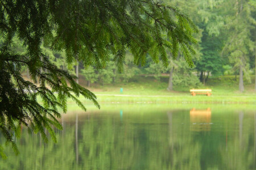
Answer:
<svg viewBox="0 0 256 170"><path fill-rule="evenodd" d="M212 111L208 109L191 109L190 111L190 130L191 131L210 131L210 118Z"/></svg>

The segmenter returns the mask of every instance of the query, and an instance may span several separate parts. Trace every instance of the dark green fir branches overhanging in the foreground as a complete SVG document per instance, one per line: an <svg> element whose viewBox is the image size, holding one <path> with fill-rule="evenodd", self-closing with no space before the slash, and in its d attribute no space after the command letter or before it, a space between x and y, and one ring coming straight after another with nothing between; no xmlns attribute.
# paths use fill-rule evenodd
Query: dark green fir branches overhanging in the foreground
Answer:
<svg viewBox="0 0 256 170"><path fill-rule="evenodd" d="M114 55L119 70L126 49L134 62L144 65L146 55L168 66L166 49L177 56L179 48L192 66L192 33L196 26L176 7L162 1L142 0L3 0L0 1L0 129L7 142L19 134L20 126L40 132L47 141L46 128L56 141L51 125L61 129L55 117L57 107L67 111L67 99L80 95L92 100L96 96L79 86L73 76L51 62L43 48L65 53L68 64L80 61L85 67L101 69ZM165 36L163 36L165 35ZM14 48L14 37L23 43L26 53ZM43 46L42 46L42 42ZM28 67L32 81L20 74ZM64 66L63 66L64 68ZM39 102L39 97L42 102ZM2 153L2 151L1 151Z"/></svg>

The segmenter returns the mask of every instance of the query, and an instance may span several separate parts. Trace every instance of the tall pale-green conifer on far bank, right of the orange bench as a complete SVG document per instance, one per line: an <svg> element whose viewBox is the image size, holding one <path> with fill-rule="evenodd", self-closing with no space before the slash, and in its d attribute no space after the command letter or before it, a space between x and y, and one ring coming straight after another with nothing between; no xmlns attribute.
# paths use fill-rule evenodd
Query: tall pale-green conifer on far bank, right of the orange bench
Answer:
<svg viewBox="0 0 256 170"><path fill-rule="evenodd" d="M230 7L226 15L226 30L228 41L224 46L224 54L229 55L229 62L239 70L239 90L244 91L243 78L250 82L249 52L253 51L254 43L250 39L250 5L247 1L227 1Z"/></svg>

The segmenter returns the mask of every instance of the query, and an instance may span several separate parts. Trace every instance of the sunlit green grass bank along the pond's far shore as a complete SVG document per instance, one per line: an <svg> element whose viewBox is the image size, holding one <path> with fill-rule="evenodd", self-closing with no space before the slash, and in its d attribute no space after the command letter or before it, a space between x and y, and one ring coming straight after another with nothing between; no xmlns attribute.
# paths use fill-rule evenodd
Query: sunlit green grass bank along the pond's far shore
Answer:
<svg viewBox="0 0 256 170"><path fill-rule="evenodd" d="M238 91L238 79L234 76L220 76L209 78L205 86L200 88L212 89L212 96L191 96L189 89L174 87L174 91L168 91L168 77L156 80L152 76L137 76L129 83L115 83L106 86L90 88L98 96L100 103L224 103L244 104L256 103L254 91L254 79L251 83L245 82L245 91ZM123 88L123 92L120 92ZM117 96L123 95L123 96ZM83 99L81 99L83 100ZM83 100L84 102L88 102Z"/></svg>

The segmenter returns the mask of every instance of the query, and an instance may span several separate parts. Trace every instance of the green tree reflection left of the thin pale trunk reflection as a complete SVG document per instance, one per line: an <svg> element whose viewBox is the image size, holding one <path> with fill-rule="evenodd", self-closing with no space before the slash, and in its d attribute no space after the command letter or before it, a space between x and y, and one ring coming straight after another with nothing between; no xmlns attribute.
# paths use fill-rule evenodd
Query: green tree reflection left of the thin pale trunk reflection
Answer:
<svg viewBox="0 0 256 170"><path fill-rule="evenodd" d="M72 134L75 129L65 129L63 139L60 140L61 131L56 133L59 141L55 145L52 141L43 143L40 135L30 135L26 129L22 131L22 138L17 142L20 154L18 156L9 155L7 160L0 160L0 169L67 169L66 167L74 168L75 152L73 150ZM2 142L2 141L1 141ZM42 142L42 146L40 143ZM11 151L11 147L7 147L5 152L7 156ZM54 155L54 156L53 156Z"/></svg>

